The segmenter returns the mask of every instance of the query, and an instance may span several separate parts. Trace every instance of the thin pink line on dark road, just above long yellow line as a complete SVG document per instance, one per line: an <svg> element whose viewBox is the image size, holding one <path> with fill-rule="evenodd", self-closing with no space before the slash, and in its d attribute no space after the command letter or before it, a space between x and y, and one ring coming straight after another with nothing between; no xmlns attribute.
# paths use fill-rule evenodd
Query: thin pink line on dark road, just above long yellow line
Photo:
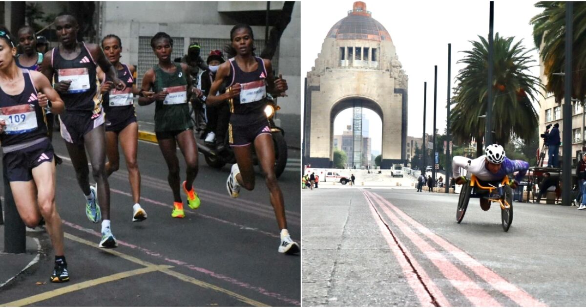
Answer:
<svg viewBox="0 0 586 308"><path fill-rule="evenodd" d="M100 234L100 232L96 232L96 231L93 231L92 229L87 229L87 228L84 228L83 226L73 224L73 222L64 221L63 219L62 219L62 222L63 222L64 225L70 226L71 228L77 229L79 231L83 231L83 232L89 233L91 235L98 236L99 238L101 238L101 236L102 236ZM166 256L161 255L161 253L154 252L154 251L149 251L148 249L142 248L141 246L132 245L131 243L127 243L127 242L120 241L120 240L117 240L117 242L118 242L118 245L122 245L122 246L125 246L125 247L128 247L128 248L136 249L137 251L140 251L142 253L145 253L145 254L147 254L149 256L154 256L156 258L163 259L166 262L170 262L170 263L173 263L175 265L185 266L188 269L195 270L196 272L202 273L204 275L207 275L207 276L210 276L210 277L214 277L216 279L223 280L224 282L229 282L229 283L231 283L233 285L237 285L239 287L243 287L244 289L253 290L253 291L257 292L257 293L260 293L261 295L273 297L273 298L278 299L278 300L281 300L281 301L283 301L285 303L294 304L296 306L300 306L301 305L301 303L298 300L289 299L288 297L286 297L284 295L280 295L277 292L270 292L270 291L264 289L263 287L252 286L252 285L249 285L246 282L241 282L241 281L239 281L239 280L237 280L235 278L232 278L232 277L229 277L229 276L226 276L226 275L222 275L220 273L213 272L212 270L209 270L209 269L200 268L199 266L195 266L195 265L190 265L190 264L188 264L186 262L183 262L183 261L180 261L180 260L175 260L175 259L167 258Z"/></svg>

